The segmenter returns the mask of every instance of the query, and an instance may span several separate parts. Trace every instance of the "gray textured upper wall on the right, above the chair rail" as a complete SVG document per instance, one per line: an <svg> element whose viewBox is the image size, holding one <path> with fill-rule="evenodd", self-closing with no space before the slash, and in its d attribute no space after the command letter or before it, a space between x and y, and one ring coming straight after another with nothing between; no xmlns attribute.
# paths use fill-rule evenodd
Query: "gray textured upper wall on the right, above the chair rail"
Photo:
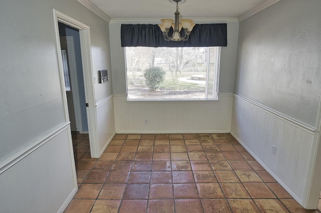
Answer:
<svg viewBox="0 0 321 213"><path fill-rule="evenodd" d="M315 127L321 1L282 0L239 26L235 94Z"/></svg>

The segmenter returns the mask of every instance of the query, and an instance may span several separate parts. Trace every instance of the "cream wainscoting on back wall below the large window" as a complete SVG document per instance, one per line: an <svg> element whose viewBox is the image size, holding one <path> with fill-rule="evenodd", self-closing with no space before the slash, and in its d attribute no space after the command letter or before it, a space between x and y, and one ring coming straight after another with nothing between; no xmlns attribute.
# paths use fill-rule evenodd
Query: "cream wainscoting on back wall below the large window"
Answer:
<svg viewBox="0 0 321 213"><path fill-rule="evenodd" d="M232 94L176 101L127 101L126 95L114 95L116 133L229 133L232 102Z"/></svg>

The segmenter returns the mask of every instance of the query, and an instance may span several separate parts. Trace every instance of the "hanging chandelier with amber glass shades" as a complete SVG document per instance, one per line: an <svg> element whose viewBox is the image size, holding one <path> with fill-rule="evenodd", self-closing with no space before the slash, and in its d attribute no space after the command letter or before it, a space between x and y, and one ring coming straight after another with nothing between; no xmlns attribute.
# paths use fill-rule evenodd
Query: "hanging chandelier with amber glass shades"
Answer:
<svg viewBox="0 0 321 213"><path fill-rule="evenodd" d="M179 3L185 3L186 0L169 0L171 3L176 3L176 12L175 14L175 22L173 19L162 19L162 24L159 24L159 28L161 28L164 38L166 41L187 41L189 39L190 33L195 26L193 20L191 19L181 19L182 15L180 14ZM173 24L174 22L174 24ZM170 28L173 28L174 32L172 37L168 35ZM181 36L181 30L184 29L184 36Z"/></svg>

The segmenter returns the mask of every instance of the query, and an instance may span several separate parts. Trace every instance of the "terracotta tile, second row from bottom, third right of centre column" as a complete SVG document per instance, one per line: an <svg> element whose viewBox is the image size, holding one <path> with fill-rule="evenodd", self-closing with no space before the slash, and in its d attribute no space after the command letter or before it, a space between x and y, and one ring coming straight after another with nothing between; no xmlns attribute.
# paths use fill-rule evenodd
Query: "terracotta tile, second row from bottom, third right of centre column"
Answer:
<svg viewBox="0 0 321 213"><path fill-rule="evenodd" d="M221 186L227 198L251 198L242 183L221 183Z"/></svg>

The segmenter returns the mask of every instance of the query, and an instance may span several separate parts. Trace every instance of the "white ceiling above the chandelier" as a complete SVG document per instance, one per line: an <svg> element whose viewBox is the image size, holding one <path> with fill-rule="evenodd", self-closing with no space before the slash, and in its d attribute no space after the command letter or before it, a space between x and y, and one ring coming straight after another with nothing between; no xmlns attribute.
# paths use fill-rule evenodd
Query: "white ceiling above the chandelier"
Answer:
<svg viewBox="0 0 321 213"><path fill-rule="evenodd" d="M169 0L87 0L111 19L174 18ZM268 2L268 3L267 3ZM237 18L271 0L186 0L179 4L184 18ZM274 1L275 2L275 1ZM264 8L263 8L264 9Z"/></svg>

